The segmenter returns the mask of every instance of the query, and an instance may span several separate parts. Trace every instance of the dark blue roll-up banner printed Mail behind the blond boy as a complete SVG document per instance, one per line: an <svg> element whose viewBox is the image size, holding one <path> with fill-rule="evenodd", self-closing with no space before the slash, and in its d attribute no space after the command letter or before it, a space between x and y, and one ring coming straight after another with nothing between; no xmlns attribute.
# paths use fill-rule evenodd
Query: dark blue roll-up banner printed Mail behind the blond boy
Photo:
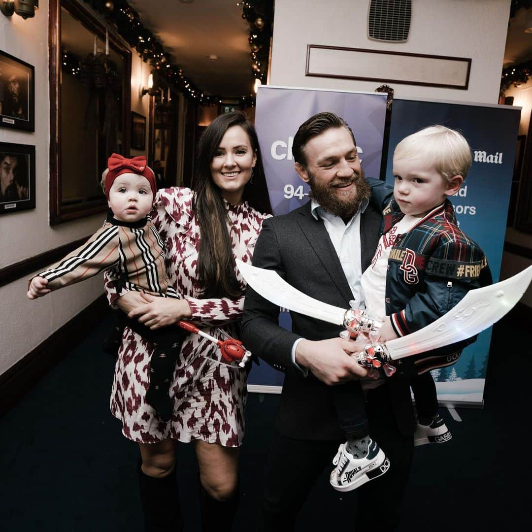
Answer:
<svg viewBox="0 0 532 532"><path fill-rule="evenodd" d="M389 132L386 181L393 185L393 152L401 139L433 124L458 129L473 163L458 195L451 197L460 229L484 250L493 281L499 280L510 201L520 108L508 105L395 99ZM456 363L434 370L438 399L453 405L483 404L492 330L466 347Z"/></svg>

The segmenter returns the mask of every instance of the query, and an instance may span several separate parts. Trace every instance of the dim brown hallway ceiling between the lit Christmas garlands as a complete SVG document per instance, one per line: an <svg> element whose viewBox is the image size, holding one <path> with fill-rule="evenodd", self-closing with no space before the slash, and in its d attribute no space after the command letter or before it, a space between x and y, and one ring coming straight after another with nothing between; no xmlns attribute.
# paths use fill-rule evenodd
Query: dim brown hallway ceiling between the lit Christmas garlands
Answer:
<svg viewBox="0 0 532 532"><path fill-rule="evenodd" d="M129 0L129 4L204 93L253 92L249 27L237 0ZM218 59L212 61L210 55Z"/></svg>

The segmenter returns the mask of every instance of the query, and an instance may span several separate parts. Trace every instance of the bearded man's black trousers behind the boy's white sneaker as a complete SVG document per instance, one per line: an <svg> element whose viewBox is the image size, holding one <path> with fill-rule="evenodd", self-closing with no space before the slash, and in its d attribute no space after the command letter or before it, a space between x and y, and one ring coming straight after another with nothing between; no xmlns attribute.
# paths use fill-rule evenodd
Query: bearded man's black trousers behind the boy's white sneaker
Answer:
<svg viewBox="0 0 532 532"><path fill-rule="evenodd" d="M410 476L413 438L397 427L386 385L369 390L366 408L369 429L390 468L353 492L338 493L349 530L393 530L400 521L403 495ZM262 530L294 530L297 514L325 468L332 470L336 440L298 440L276 432L264 489ZM327 489L333 489L327 483ZM354 509L358 506L358 511ZM376 509L380 508L380 511ZM338 516L331 516L331 520ZM331 521L331 522L332 522ZM342 525L344 528L344 525Z"/></svg>

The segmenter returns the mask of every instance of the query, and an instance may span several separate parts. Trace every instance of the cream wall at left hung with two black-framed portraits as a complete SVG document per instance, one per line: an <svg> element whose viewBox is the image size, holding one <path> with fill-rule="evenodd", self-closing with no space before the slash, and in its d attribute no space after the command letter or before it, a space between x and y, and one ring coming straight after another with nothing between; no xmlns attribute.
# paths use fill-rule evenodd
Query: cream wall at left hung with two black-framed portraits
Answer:
<svg viewBox="0 0 532 532"><path fill-rule="evenodd" d="M85 4L84 4L85 5ZM92 234L104 214L49 226L48 2L35 18L0 15L0 50L35 66L35 132L0 128L0 141L36 147L36 209L0 217L0 268ZM131 109L147 117L148 97L140 98L148 67L132 54ZM147 128L146 128L147 129ZM27 279L0 287L0 373L9 369L55 330L102 294L102 279L64 288L37 301L26 297Z"/></svg>

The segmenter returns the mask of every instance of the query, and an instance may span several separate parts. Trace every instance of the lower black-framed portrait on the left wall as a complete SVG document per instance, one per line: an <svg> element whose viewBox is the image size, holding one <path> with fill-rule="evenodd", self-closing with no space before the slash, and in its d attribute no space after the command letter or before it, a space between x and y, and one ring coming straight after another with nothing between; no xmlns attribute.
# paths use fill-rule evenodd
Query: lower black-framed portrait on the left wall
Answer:
<svg viewBox="0 0 532 532"><path fill-rule="evenodd" d="M0 142L0 215L35 209L35 146Z"/></svg>

